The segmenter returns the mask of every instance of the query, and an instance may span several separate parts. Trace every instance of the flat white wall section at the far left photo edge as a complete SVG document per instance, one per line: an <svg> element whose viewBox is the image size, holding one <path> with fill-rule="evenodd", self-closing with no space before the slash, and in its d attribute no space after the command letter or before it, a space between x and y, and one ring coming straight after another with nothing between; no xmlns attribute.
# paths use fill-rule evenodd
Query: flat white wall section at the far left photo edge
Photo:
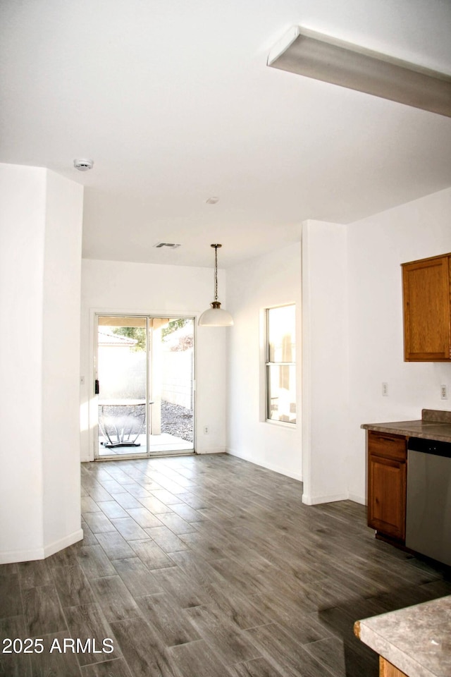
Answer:
<svg viewBox="0 0 451 677"><path fill-rule="evenodd" d="M0 165L0 557L37 559L42 523L44 170ZM16 558L17 554L17 558Z"/></svg>

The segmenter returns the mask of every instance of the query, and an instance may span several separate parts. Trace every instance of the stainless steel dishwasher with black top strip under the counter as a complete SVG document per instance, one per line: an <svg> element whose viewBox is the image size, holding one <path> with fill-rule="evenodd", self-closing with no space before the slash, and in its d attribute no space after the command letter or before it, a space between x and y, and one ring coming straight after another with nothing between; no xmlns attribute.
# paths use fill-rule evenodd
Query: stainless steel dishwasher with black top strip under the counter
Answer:
<svg viewBox="0 0 451 677"><path fill-rule="evenodd" d="M406 546L451 566L451 443L410 437Z"/></svg>

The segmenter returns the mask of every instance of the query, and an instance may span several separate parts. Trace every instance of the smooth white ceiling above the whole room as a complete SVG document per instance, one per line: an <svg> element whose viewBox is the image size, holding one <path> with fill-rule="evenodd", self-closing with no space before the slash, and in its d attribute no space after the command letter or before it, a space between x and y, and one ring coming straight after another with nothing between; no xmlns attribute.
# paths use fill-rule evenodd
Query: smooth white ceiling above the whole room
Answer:
<svg viewBox="0 0 451 677"><path fill-rule="evenodd" d="M209 267L450 186L451 118L268 68L292 25L451 75L450 0L1 0L0 161L85 185L85 257Z"/></svg>

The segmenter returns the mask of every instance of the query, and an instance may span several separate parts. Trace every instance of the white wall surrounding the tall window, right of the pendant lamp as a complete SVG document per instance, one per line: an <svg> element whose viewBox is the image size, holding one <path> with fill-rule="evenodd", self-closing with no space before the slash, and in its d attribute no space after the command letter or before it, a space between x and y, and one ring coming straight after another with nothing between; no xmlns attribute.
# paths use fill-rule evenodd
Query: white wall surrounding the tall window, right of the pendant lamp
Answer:
<svg viewBox="0 0 451 677"><path fill-rule="evenodd" d="M301 247L295 243L227 272L230 328L228 358L228 452L284 475L302 479L300 360L296 426L268 423L264 415L264 309L295 303L297 348L301 336ZM299 353L298 353L299 355Z"/></svg>

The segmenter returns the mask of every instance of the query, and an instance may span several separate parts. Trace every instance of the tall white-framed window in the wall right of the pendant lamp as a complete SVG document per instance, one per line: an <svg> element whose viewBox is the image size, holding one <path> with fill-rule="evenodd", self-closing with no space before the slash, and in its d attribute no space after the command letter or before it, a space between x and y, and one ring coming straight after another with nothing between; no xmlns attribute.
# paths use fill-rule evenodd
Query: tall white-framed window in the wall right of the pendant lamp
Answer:
<svg viewBox="0 0 451 677"><path fill-rule="evenodd" d="M296 422L295 305L266 310L266 420Z"/></svg>

